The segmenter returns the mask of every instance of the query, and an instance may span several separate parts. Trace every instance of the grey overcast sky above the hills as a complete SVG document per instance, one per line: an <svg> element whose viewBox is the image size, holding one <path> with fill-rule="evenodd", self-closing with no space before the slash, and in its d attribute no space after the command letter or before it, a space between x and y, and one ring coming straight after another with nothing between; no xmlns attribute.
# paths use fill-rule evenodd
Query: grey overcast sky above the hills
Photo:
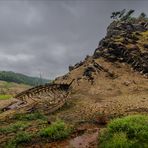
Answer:
<svg viewBox="0 0 148 148"><path fill-rule="evenodd" d="M93 54L112 11L147 0L0 0L0 70L55 78Z"/></svg>

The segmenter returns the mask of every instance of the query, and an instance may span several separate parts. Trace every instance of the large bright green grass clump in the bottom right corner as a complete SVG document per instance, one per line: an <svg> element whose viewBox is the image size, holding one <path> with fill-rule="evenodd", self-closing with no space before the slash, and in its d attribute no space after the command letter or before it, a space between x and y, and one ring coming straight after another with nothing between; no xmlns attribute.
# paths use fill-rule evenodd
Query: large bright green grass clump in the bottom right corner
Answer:
<svg viewBox="0 0 148 148"><path fill-rule="evenodd" d="M148 115L112 120L99 138L101 148L147 148Z"/></svg>

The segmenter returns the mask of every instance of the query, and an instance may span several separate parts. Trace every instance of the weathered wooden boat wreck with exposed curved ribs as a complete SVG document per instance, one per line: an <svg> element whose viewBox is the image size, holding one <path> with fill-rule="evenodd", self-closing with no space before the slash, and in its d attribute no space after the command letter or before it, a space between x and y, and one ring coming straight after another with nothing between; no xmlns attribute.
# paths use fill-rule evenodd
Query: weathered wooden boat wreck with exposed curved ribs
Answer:
<svg viewBox="0 0 148 148"><path fill-rule="evenodd" d="M65 103L69 94L70 85L73 81L74 80L68 84L52 83L39 85L25 90L14 97L18 102L8 105L3 111L20 109L28 112L41 109L46 112L52 112Z"/></svg>

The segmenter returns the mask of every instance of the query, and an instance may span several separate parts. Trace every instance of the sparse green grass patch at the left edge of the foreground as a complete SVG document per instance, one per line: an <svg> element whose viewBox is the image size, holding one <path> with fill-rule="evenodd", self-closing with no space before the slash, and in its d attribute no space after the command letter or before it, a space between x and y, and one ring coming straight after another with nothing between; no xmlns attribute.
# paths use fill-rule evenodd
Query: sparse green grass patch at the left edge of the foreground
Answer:
<svg viewBox="0 0 148 148"><path fill-rule="evenodd" d="M16 133L18 131L24 130L28 126L29 125L27 123L18 121L14 124L10 124L8 126L1 127L0 134Z"/></svg>

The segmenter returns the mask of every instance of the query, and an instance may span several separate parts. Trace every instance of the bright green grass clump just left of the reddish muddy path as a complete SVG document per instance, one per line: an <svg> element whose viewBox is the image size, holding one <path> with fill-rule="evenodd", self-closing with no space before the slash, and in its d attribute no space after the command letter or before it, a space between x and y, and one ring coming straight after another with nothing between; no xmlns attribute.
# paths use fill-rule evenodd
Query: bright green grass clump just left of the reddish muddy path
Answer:
<svg viewBox="0 0 148 148"><path fill-rule="evenodd" d="M49 127L42 129L39 135L41 137L46 137L49 138L51 141L54 141L67 138L71 132L72 128L70 128L63 121L59 120L51 124Z"/></svg>

